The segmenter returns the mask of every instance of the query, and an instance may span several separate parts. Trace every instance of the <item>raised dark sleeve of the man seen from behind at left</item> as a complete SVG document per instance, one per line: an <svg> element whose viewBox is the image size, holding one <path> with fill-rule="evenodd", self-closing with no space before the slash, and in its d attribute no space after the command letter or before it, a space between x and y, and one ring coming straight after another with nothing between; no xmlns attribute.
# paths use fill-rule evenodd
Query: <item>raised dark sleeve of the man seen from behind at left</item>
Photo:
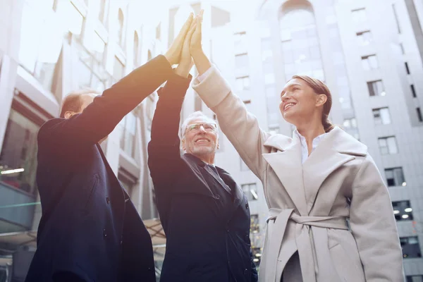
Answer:
<svg viewBox="0 0 423 282"><path fill-rule="evenodd" d="M94 145L111 133L121 119L173 75L164 56L157 56L119 80L82 114L72 118L56 118L44 123L39 130L41 142L69 145Z"/></svg>

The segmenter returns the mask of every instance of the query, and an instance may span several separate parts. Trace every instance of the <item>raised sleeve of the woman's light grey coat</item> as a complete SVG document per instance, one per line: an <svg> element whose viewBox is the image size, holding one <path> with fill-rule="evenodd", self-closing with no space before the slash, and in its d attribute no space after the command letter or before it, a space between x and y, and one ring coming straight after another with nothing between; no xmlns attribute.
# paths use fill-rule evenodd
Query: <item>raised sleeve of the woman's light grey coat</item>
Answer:
<svg viewBox="0 0 423 282"><path fill-rule="evenodd" d="M245 164L259 179L263 179L266 165L262 154L269 152L264 147L269 134L259 127L257 118L247 111L243 100L231 91L228 82L215 66L212 66L212 71L202 82L194 80L192 87L216 113L221 130Z"/></svg>

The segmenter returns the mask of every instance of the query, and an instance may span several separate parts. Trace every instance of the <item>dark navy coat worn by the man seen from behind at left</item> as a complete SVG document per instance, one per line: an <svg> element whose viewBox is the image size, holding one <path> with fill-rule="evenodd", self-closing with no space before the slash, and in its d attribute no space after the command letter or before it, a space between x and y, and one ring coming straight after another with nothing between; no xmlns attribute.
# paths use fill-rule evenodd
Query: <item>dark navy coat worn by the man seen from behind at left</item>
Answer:
<svg viewBox="0 0 423 282"><path fill-rule="evenodd" d="M53 281L61 271L85 281L155 281L149 233L97 142L172 75L158 56L94 98L82 114L40 128L42 218L25 281Z"/></svg>

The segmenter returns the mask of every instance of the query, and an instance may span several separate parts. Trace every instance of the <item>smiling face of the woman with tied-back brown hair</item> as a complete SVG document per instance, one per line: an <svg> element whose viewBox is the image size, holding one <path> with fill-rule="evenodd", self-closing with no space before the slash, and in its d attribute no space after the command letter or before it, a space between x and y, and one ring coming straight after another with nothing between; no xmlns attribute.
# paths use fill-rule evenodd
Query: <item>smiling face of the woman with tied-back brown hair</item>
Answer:
<svg viewBox="0 0 423 282"><path fill-rule="evenodd" d="M325 94L317 94L305 80L293 78L281 92L279 109L283 118L297 126L322 115Z"/></svg>

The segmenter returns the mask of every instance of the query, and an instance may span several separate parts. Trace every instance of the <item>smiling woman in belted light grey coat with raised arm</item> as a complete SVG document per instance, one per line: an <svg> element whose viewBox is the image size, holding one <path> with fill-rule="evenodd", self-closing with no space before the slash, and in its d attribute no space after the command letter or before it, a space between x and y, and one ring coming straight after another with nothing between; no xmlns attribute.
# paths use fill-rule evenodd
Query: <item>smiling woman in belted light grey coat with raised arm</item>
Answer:
<svg viewBox="0 0 423 282"><path fill-rule="evenodd" d="M326 85L293 77L279 107L297 130L265 133L204 55L201 23L196 33L193 87L262 181L269 206L259 281L403 281L388 190L367 147L329 122Z"/></svg>

